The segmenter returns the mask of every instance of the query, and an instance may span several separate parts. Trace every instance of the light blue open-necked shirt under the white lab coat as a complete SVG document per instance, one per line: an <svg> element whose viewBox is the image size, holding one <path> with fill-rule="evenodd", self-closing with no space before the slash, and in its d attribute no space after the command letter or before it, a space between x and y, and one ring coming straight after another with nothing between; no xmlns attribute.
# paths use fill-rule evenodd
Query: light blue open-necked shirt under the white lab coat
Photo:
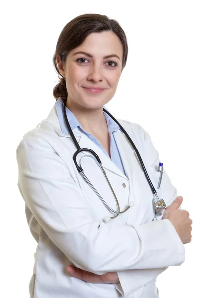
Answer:
<svg viewBox="0 0 206 298"><path fill-rule="evenodd" d="M64 123L62 104L63 104L63 101L62 101L61 97L59 97L55 103L55 106L56 106L61 130L62 130L63 134L66 134L66 133L69 133L69 131L66 127L66 124ZM103 106L103 108L106 109L104 106ZM111 142L110 142L111 143L111 145L110 145L111 160L126 176L126 173L125 173L124 167L123 167L123 163L121 160L121 156L120 156L120 153L119 153L119 150L118 150L118 147L116 144L116 140L115 140L114 134L113 134L113 132L120 129L119 125L108 114L106 114L105 112L103 112L103 113L104 113L104 116L105 116L105 119L106 119L106 122L108 125L109 136L111 138ZM88 138L90 138L90 140L92 140L103 151L103 153L109 157L108 153L103 148L102 144L93 135L91 135L90 133L88 133L87 131L85 131L82 128L81 124L78 122L77 118L74 116L74 114L70 111L70 109L68 107L66 107L66 114L67 114L67 119L69 121L71 129L73 130L74 128L78 127L79 130L84 132L88 136Z"/></svg>

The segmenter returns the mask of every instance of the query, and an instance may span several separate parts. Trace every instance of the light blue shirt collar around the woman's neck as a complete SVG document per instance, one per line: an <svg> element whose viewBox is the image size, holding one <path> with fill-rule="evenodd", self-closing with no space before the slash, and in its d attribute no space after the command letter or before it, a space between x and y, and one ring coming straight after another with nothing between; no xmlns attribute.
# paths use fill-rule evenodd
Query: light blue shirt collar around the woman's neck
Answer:
<svg viewBox="0 0 206 298"><path fill-rule="evenodd" d="M56 111L59 118L59 124L60 124L61 130L63 134L66 134L68 133L68 129L64 122L63 110L62 110L63 101L61 97L58 98L58 100L55 103L55 106L56 106ZM108 111L108 109L105 106L103 106L103 108L106 111ZM119 125L106 112L103 112L103 113L110 132L112 133L114 131L119 130ZM81 129L83 129L81 124L78 122L77 118L75 117L75 115L70 111L68 107L66 107L66 115L72 130L75 129L76 127L80 127Z"/></svg>

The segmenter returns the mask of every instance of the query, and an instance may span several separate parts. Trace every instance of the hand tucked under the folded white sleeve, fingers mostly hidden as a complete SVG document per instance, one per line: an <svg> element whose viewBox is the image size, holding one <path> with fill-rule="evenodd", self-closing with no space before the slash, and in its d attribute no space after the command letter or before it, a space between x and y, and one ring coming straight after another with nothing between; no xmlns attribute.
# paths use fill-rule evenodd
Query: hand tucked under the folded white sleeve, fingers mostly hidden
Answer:
<svg viewBox="0 0 206 298"><path fill-rule="evenodd" d="M108 272L102 275L82 270L73 265L67 266L67 271L70 276L81 279L88 283L98 284L116 284L119 283L119 278L116 272Z"/></svg>

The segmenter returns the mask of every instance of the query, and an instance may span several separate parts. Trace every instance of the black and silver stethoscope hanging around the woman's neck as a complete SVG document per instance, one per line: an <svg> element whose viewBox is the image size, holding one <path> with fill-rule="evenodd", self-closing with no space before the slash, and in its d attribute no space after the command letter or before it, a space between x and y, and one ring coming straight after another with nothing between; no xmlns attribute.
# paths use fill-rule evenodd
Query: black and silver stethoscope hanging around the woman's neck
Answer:
<svg viewBox="0 0 206 298"><path fill-rule="evenodd" d="M146 179L147 179L147 182L148 182L148 184L149 184L149 186L150 186L150 188L151 188L151 191L152 191L152 193L153 193L153 200L152 200L152 202L153 202L153 205L154 205L154 208L155 208L155 211L159 214L159 215L162 215L162 209L166 209L166 204L165 204L165 202L164 202L164 200L163 199L159 199L159 197L158 197L158 195L157 195L157 192L156 192L156 189L154 188L154 186L153 186L153 184L152 184L152 182L151 182L151 180L150 180L150 178L149 178L149 175L148 175L148 173L147 173L147 170L146 170L146 168L145 168L145 166L144 166L144 163L143 163L143 161L142 161L142 158L141 158L141 156L140 156L140 154L139 154L139 151L137 150L137 148L136 148L136 146L134 145L134 143L133 143L133 141L132 141L132 139L129 137L129 135L127 134L127 132L125 131L125 129L121 126L121 124L107 111L107 110L105 110L104 108L103 108L103 111L105 112L105 113L107 113L118 125L119 125L119 127L120 127L120 129L122 130L122 132L124 133L124 135L126 136L126 138L127 138L127 140L129 141L129 143L131 144L131 146L133 147L133 149L135 150L135 152L136 152L136 154L137 154L137 157L138 157L138 159L139 159L139 162L140 162L140 164L141 164L141 166L142 166L142 169L143 169L143 172L144 172L144 175L145 175L145 177L146 177ZM107 208L107 209L109 209L111 212L113 212L113 213L115 213L116 215L115 216L112 216L112 217L110 217L110 216L106 216L105 218L104 218L104 221L105 222L107 222L107 221L109 221L110 219L114 219L114 218L116 218L120 213L124 213L124 212L126 212L130 207L133 207L134 206L134 202L133 201L131 201L130 203L129 203L129 205L123 210L123 211L120 211L120 207L119 207L119 202L118 202L118 199L117 199L117 197L116 197L116 194L115 194L115 192L114 192L114 190L113 190L113 188L112 188L112 186L111 186L111 184L110 184L110 182L109 182L109 179L108 179L108 177L107 177L107 175L106 175L106 172L104 171L104 168L103 168L103 166L102 166L102 163L101 163L101 160L100 160L100 158L99 158L99 156L93 151L93 150L91 150L91 149L89 149L89 148L80 148L80 146L79 146L79 144L78 144L78 142L77 142L77 140L76 140L76 138L75 138L75 136L74 136L74 134L73 134L73 131L72 131L72 129L71 129L71 127L70 127L70 124L69 124L69 121L68 121L68 119L67 119L67 114L66 114L66 101L64 101L63 102L63 116L64 116L64 121L65 121L65 123L66 123L66 125L67 125L67 128L68 128L68 130L69 130L69 133L70 133L70 135L71 135L71 137L72 137L72 141L73 141L73 143L74 143L74 145L75 145L75 147L76 147L76 152L74 153L74 155L73 155L73 160L74 160L74 163L75 163L75 166L76 166L76 168L77 168L77 170L78 170L78 172L82 175L82 177L84 178L84 180L90 185L90 187L93 189L93 191L97 194L97 196L100 198L100 200L103 202L103 204L104 204L104 206ZM112 191L112 194L113 194L113 196L114 196L114 198L115 198L115 201L116 201L116 205L117 205L117 211L116 210L114 210L114 209L112 209L104 200L103 200L103 198L102 198L102 196L98 193L98 191L95 189L95 187L92 185L92 183L90 182L90 180L87 178L87 176L84 174L84 171L83 171L83 168L81 167L81 164L80 165L78 165L77 164L77 161L76 161L76 158L77 158L77 155L80 153L80 152L83 152L83 151L87 151L87 152L89 152L89 153L91 153L92 154L92 156L90 156L90 155L87 155L88 157L92 157L94 160L95 160L95 162L96 162L96 164L100 167L100 169L102 170L102 172L103 172L103 175L104 175L104 177L105 177L105 179L106 179L106 181L108 182L108 185L109 185L109 187L110 187L110 189L111 189L111 191ZM84 156L83 156L84 157Z"/></svg>

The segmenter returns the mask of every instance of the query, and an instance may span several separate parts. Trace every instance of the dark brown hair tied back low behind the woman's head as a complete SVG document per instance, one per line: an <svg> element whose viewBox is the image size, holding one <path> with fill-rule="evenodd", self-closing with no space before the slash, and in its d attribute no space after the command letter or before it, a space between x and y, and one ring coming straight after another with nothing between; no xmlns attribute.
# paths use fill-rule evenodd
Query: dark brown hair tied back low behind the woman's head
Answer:
<svg viewBox="0 0 206 298"><path fill-rule="evenodd" d="M59 83L53 89L53 96L57 100L60 96L62 100L67 100L67 89L65 78L60 74L56 57L60 54L63 63L67 54L74 48L81 45L86 37L92 32L112 31L122 42L123 61L122 70L126 65L128 56L128 45L124 30L116 20L109 19L106 15L87 13L75 17L62 30L57 41L56 50L53 56L53 65L59 74Z"/></svg>

